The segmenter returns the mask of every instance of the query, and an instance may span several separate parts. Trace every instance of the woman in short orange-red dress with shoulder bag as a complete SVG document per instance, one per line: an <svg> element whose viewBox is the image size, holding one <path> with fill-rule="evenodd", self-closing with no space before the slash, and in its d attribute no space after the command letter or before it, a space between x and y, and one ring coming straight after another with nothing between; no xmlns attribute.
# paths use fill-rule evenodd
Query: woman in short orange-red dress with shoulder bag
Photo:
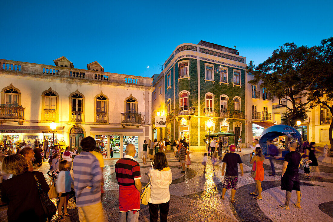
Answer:
<svg viewBox="0 0 333 222"><path fill-rule="evenodd" d="M261 196L261 181L263 181L265 179L264 174L264 167L262 166L262 164L264 163L264 155L262 154L262 150L261 147L258 146L255 148L255 155L252 157L252 153L250 153L250 164L253 164L252 166L252 170L255 171L255 177L253 178L256 186L255 186L255 190L254 192L249 193L250 195L253 195L254 199L259 199L262 200L262 196Z"/></svg>

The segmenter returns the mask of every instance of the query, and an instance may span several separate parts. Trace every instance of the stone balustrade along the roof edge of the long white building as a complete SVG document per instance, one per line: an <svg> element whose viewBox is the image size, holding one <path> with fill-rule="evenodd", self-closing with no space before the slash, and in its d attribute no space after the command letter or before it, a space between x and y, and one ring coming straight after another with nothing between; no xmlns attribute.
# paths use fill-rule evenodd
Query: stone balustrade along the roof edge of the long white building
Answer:
<svg viewBox="0 0 333 222"><path fill-rule="evenodd" d="M152 78L0 59L0 71L152 87Z"/></svg>

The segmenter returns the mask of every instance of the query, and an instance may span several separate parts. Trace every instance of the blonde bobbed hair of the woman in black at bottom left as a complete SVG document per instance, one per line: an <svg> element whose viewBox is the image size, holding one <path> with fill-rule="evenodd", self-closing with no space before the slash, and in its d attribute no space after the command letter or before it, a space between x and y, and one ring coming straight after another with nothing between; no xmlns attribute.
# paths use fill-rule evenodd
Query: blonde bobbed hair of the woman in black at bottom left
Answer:
<svg viewBox="0 0 333 222"><path fill-rule="evenodd" d="M2 161L2 170L13 176L24 174L28 171L28 161L21 154L6 156Z"/></svg>

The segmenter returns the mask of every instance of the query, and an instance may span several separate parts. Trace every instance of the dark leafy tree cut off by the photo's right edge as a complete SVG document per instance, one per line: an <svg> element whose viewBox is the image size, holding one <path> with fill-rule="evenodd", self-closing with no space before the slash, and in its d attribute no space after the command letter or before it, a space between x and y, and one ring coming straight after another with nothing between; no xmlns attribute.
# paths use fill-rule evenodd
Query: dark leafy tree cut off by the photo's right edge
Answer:
<svg viewBox="0 0 333 222"><path fill-rule="evenodd" d="M320 46L313 46L309 50L309 59L303 67L304 76L311 85L308 87L307 100L310 108L326 106L330 110L329 141L333 151L333 37L321 41ZM320 120L321 121L321 120Z"/></svg>

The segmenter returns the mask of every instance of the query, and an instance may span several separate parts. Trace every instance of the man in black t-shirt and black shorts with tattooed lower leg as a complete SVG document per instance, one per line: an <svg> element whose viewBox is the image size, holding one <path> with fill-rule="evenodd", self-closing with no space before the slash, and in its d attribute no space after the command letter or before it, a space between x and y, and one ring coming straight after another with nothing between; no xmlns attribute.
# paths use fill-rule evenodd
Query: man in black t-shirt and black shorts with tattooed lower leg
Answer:
<svg viewBox="0 0 333 222"><path fill-rule="evenodd" d="M281 177L281 190L286 191L286 202L284 205L278 205L279 208L290 210L289 201L291 197L291 191L296 190L297 203L294 203L295 207L302 209L301 207L301 189L299 188L299 176L298 168L301 165L302 156L296 151L297 143L291 142L289 144L289 153L284 157L282 166Z"/></svg>

